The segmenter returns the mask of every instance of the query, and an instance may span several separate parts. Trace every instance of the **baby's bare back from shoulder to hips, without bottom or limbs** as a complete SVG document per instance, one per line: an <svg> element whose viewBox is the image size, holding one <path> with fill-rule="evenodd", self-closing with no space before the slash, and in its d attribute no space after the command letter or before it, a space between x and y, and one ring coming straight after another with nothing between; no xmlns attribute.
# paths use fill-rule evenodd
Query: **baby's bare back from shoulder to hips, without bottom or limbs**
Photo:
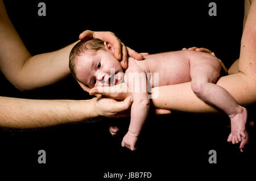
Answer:
<svg viewBox="0 0 256 181"><path fill-rule="evenodd" d="M152 87L189 82L191 81L189 54L190 52L187 50L180 50L150 54L144 56L143 61L129 58L126 74L138 71L137 68L139 68L143 73L149 75L147 78L148 82L152 82Z"/></svg>

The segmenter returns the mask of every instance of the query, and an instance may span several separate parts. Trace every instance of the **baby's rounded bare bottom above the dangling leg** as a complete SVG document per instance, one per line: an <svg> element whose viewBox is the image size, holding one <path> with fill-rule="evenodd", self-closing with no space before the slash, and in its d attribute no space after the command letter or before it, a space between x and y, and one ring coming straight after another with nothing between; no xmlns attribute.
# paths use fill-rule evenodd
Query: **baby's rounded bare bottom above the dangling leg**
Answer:
<svg viewBox="0 0 256 181"><path fill-rule="evenodd" d="M221 64L218 58L209 54L195 56L190 60L191 79L202 79L208 82L216 82L220 76Z"/></svg>

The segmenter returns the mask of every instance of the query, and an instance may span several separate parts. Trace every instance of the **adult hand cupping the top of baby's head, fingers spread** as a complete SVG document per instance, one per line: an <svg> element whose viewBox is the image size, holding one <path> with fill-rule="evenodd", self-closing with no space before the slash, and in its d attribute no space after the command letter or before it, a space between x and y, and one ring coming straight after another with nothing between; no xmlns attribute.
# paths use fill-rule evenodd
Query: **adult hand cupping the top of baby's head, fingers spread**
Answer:
<svg viewBox="0 0 256 181"><path fill-rule="evenodd" d="M126 47L121 40L118 39L112 32L104 32L104 31L90 31L86 30L79 35L79 39L83 41L87 41L92 38L101 39L104 41L108 41L113 45L114 48L114 56L117 60L121 60L121 66L123 69L127 69L127 56L135 58L136 60L143 60L143 55L135 52L133 49Z"/></svg>

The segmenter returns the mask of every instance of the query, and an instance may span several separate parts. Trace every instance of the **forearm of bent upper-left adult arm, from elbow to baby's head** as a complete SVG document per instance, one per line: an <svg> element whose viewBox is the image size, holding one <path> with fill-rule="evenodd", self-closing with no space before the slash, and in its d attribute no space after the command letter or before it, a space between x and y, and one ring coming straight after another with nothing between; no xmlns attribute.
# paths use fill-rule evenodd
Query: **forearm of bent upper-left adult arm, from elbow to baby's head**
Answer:
<svg viewBox="0 0 256 181"><path fill-rule="evenodd" d="M28 58L11 83L19 90L30 90L51 85L70 74L69 52L77 42L55 52ZM15 73L13 73L15 75Z"/></svg>

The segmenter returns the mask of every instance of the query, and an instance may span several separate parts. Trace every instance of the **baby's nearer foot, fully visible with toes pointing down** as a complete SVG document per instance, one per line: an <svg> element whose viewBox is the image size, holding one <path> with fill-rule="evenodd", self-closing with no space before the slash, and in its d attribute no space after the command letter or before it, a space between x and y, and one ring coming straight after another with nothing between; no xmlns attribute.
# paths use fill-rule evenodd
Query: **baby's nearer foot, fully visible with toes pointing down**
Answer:
<svg viewBox="0 0 256 181"><path fill-rule="evenodd" d="M245 134L245 124L247 120L247 110L246 108L239 106L236 113L229 115L231 121L231 133L228 137L228 142L232 141L232 144L238 144L242 141L241 136L246 139Z"/></svg>

